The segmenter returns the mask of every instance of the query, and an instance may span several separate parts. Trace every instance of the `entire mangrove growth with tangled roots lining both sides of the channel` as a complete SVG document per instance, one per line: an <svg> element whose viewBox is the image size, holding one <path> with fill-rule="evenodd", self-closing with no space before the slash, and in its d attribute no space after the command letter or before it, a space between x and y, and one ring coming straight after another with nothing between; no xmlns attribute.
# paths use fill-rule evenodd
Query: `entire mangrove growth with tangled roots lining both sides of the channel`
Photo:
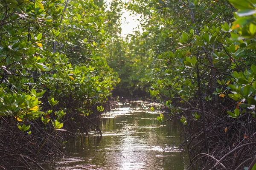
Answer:
<svg viewBox="0 0 256 170"><path fill-rule="evenodd" d="M122 8L143 33L120 37ZM0 1L0 168L62 156L65 130L100 133L116 86L180 119L192 167L253 169L255 17L255 0Z"/></svg>

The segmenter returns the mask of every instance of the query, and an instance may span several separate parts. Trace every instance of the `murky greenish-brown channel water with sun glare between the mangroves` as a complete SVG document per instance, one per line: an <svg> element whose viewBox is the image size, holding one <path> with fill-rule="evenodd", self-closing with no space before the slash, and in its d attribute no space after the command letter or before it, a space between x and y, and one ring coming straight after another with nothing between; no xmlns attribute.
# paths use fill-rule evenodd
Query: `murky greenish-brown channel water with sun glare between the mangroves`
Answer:
<svg viewBox="0 0 256 170"><path fill-rule="evenodd" d="M161 125L154 103L119 102L104 113L102 137L79 136L66 143L68 159L59 161L58 170L184 170L186 151L179 148L179 120ZM154 106L156 110L156 105ZM165 115L165 119L169 117Z"/></svg>

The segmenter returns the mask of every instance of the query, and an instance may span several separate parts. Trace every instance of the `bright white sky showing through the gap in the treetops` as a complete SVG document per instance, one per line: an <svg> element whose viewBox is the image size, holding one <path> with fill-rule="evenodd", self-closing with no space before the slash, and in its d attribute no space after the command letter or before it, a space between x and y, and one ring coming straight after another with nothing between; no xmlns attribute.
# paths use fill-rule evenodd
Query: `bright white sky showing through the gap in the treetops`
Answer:
<svg viewBox="0 0 256 170"><path fill-rule="evenodd" d="M104 0L107 5L112 0ZM129 2L129 0L123 0L123 2ZM108 8L107 8L108 9ZM140 25L140 14L134 15L130 11L127 11L125 9L122 10L122 18L121 18L121 36L125 37L127 34L132 34L133 31L140 30L142 32L142 29L138 28ZM139 19L139 20L138 20Z"/></svg>

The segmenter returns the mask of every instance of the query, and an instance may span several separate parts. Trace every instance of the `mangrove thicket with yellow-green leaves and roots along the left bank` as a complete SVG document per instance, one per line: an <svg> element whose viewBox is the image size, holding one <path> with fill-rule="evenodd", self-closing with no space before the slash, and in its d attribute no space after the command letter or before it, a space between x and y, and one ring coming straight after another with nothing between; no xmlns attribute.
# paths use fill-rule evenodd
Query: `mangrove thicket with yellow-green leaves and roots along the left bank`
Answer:
<svg viewBox="0 0 256 170"><path fill-rule="evenodd" d="M111 15L102 1L0 1L0 169L62 154L61 131L99 131L90 117L119 82L102 50Z"/></svg>

